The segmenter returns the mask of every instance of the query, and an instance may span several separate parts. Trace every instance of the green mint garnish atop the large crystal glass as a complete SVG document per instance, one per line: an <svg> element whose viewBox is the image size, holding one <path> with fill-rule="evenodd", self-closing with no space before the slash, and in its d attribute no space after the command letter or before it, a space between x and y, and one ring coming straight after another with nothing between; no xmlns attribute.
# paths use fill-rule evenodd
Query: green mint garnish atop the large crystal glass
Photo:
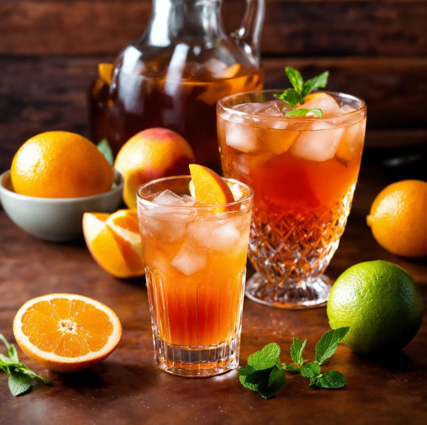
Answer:
<svg viewBox="0 0 427 425"><path fill-rule="evenodd" d="M321 74L307 81L304 81L301 73L297 69L292 68L291 66L286 66L285 73L293 88L286 88L286 90L283 93L274 94L274 97L277 99L283 100L292 108L296 108L298 104L303 105L304 98L309 93L311 93L313 90L317 88L324 88L328 84L329 71L322 72ZM300 112L296 113L296 111L300 111ZM290 113L294 113L294 114L290 114ZM286 113L286 116L304 116L307 114L314 114L319 118L323 116L322 110L318 108L296 109L294 111L289 111L288 113Z"/></svg>

